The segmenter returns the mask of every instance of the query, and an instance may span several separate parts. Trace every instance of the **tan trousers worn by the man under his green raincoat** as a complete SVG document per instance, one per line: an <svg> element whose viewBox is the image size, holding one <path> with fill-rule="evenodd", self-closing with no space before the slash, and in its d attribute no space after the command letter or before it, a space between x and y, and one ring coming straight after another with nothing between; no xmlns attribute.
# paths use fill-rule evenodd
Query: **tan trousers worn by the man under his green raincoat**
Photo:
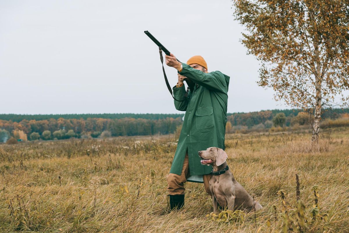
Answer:
<svg viewBox="0 0 349 233"><path fill-rule="evenodd" d="M190 176L189 173L189 159L188 159L188 151L185 154L184 162L183 162L183 168L182 173L180 175L170 173L167 176L167 190L169 191L170 195L180 195L184 194L184 183L187 181L187 178ZM206 192L211 195L210 187L209 187L209 181L212 177L212 174L202 175L203 178L203 187L205 188Z"/></svg>

